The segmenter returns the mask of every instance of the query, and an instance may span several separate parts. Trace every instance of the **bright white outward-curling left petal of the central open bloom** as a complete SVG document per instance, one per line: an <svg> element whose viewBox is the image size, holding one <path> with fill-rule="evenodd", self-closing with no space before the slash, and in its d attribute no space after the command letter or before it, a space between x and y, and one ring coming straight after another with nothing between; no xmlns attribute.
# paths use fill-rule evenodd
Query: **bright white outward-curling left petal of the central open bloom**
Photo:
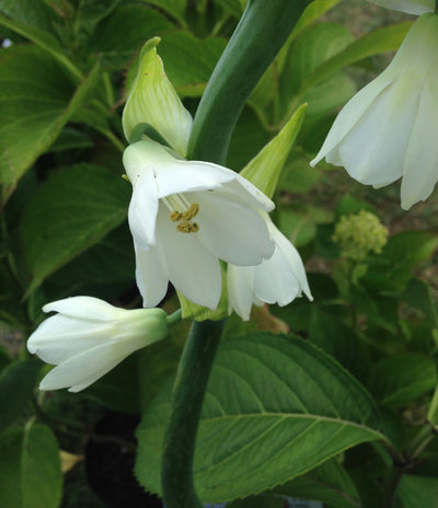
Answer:
<svg viewBox="0 0 438 508"><path fill-rule="evenodd" d="M132 197L129 204L129 229L135 242L141 249L155 244L155 222L159 200L157 181L152 168L147 168L132 182Z"/></svg>

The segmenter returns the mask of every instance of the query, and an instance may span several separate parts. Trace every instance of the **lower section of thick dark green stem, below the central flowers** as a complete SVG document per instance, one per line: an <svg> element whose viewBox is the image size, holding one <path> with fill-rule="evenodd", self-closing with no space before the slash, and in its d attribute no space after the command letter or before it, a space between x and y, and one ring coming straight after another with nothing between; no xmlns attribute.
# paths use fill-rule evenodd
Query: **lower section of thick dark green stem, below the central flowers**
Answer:
<svg viewBox="0 0 438 508"><path fill-rule="evenodd" d="M161 480L168 508L200 508L193 483L195 439L208 377L223 322L194 322L173 389Z"/></svg>

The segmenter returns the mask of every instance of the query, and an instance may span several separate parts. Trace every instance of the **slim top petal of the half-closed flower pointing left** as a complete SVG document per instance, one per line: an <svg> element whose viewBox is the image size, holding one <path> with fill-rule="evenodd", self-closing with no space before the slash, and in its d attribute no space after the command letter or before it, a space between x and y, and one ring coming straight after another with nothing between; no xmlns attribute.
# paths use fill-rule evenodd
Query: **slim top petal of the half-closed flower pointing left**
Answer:
<svg viewBox="0 0 438 508"><path fill-rule="evenodd" d="M106 301L93 297L65 298L43 307L44 312L60 312L61 314L90 321L114 320L119 310Z"/></svg>

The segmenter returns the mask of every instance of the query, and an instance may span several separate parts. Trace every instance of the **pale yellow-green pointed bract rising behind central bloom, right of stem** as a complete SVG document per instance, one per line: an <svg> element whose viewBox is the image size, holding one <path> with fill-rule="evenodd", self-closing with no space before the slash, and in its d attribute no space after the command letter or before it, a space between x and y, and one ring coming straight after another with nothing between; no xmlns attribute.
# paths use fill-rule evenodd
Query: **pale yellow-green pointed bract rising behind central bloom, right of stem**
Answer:
<svg viewBox="0 0 438 508"><path fill-rule="evenodd" d="M241 171L241 175L258 187L267 197L274 196L281 170L304 119L307 104L302 104L285 127Z"/></svg>

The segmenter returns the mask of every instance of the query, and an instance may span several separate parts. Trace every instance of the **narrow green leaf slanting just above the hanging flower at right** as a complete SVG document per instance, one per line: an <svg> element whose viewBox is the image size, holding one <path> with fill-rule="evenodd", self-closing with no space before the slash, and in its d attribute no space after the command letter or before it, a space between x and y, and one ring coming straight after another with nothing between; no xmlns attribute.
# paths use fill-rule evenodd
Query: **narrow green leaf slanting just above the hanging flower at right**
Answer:
<svg viewBox="0 0 438 508"><path fill-rule="evenodd" d="M359 41L355 41L343 51L324 61L309 74L301 83L302 89L309 89L316 83L324 81L333 72L357 61L381 53L395 51L399 49L412 21L399 25L384 26L370 34L365 35Z"/></svg>

